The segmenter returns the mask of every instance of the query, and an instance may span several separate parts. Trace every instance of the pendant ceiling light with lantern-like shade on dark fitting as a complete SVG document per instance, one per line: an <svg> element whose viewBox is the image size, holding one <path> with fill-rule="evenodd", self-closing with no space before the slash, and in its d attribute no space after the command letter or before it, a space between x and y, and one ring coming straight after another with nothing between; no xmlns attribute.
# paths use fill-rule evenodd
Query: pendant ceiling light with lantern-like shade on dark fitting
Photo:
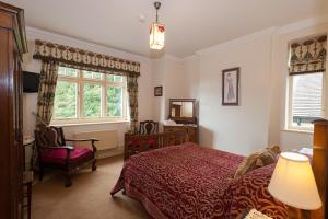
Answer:
<svg viewBox="0 0 328 219"><path fill-rule="evenodd" d="M156 9L156 21L151 25L149 45L151 49L162 49L164 48L165 42L165 25L159 23L159 9L161 8L161 2L154 3Z"/></svg>

